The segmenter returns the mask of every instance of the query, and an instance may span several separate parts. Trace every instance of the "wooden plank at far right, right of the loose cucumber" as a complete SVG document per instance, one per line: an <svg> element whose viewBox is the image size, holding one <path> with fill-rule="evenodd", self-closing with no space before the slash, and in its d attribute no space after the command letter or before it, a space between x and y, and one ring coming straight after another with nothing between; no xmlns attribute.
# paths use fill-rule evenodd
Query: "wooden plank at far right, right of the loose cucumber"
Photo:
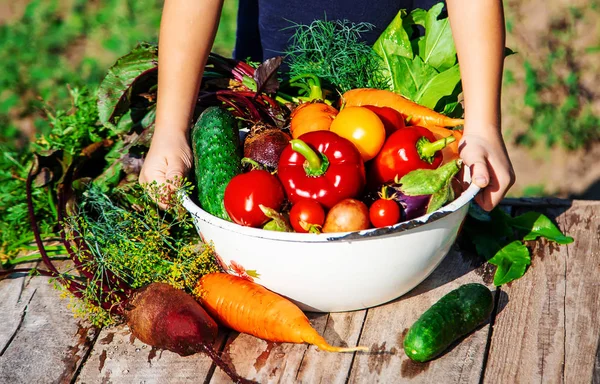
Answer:
<svg viewBox="0 0 600 384"><path fill-rule="evenodd" d="M502 287L484 381L589 383L600 336L600 206L544 211L575 238L532 245L523 278Z"/></svg>

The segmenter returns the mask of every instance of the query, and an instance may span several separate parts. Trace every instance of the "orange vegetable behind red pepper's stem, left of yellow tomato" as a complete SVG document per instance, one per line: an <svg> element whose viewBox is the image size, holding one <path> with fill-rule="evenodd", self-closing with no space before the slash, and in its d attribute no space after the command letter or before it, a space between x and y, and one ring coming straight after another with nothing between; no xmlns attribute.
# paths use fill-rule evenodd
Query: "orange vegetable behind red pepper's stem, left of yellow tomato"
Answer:
<svg viewBox="0 0 600 384"><path fill-rule="evenodd" d="M291 115L292 137L297 139L307 132L329 130L337 114L337 109L322 102L300 104Z"/></svg>

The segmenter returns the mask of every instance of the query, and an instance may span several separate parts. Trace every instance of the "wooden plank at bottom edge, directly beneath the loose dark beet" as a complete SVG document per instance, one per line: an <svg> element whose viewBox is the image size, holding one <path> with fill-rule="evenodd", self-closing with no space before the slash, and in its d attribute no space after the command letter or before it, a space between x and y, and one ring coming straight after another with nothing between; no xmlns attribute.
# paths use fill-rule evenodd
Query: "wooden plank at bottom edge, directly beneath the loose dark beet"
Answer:
<svg viewBox="0 0 600 384"><path fill-rule="evenodd" d="M223 344L223 336L215 348ZM133 337L126 325L105 328L100 333L77 383L202 383L212 370L204 354L182 357L152 348Z"/></svg>

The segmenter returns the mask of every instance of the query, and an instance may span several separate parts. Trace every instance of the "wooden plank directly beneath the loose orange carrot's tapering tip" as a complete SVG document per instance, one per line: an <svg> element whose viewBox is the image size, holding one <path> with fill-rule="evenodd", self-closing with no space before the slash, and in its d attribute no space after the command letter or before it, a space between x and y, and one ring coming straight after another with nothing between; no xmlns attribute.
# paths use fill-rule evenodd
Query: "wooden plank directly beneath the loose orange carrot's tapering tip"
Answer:
<svg viewBox="0 0 600 384"><path fill-rule="evenodd" d="M356 345L364 311L309 313L312 326L332 345ZM314 346L268 343L255 337L232 333L224 355L236 371L259 383L344 383L352 363L351 353L330 353ZM227 383L215 372L211 383Z"/></svg>

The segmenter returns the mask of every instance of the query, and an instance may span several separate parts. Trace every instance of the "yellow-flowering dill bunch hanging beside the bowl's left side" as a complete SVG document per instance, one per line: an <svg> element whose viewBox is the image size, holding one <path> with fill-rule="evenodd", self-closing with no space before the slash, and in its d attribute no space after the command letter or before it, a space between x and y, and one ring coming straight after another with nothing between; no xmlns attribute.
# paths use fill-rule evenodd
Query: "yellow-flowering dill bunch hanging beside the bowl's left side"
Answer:
<svg viewBox="0 0 600 384"><path fill-rule="evenodd" d="M189 191L191 186L181 188ZM166 282L191 292L202 275L220 270L212 248L200 241L181 202L175 199L163 211L151 198L163 193L164 186L156 184L146 189L138 184L128 190L116 188L110 194L92 184L80 193L76 211L66 220L69 239L84 243L75 253L86 269L94 271L81 303L72 305L80 315L92 322L112 319L98 305L103 284L113 293L120 289L110 285L109 275L133 289Z"/></svg>

